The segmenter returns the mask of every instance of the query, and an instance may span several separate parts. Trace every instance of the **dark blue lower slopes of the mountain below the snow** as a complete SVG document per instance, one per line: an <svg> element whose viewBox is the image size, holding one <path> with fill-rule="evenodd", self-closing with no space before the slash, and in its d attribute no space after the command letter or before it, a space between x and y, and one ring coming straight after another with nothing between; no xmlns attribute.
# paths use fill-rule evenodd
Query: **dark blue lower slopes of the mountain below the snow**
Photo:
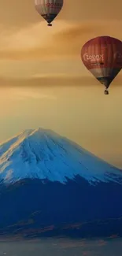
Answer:
<svg viewBox="0 0 122 256"><path fill-rule="evenodd" d="M122 236L122 185L24 179L0 185L1 236Z"/></svg>

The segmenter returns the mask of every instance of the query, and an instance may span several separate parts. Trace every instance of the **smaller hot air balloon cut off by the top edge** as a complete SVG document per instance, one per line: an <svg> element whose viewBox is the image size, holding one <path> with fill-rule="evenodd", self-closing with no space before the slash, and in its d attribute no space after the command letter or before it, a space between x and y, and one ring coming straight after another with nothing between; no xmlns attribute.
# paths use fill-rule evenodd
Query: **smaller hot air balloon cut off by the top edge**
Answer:
<svg viewBox="0 0 122 256"><path fill-rule="evenodd" d="M47 21L48 26L61 11L63 0L35 0L35 9Z"/></svg>

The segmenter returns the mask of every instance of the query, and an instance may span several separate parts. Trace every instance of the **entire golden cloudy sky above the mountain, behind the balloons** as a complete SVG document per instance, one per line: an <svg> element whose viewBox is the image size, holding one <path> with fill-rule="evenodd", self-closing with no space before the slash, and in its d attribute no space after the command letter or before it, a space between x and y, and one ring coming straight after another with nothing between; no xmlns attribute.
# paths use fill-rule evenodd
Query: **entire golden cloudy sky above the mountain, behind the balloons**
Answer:
<svg viewBox="0 0 122 256"><path fill-rule="evenodd" d="M104 87L83 66L87 40L122 40L122 2L67 0L52 27L33 0L2 0L0 141L28 128L50 128L122 168L122 72Z"/></svg>

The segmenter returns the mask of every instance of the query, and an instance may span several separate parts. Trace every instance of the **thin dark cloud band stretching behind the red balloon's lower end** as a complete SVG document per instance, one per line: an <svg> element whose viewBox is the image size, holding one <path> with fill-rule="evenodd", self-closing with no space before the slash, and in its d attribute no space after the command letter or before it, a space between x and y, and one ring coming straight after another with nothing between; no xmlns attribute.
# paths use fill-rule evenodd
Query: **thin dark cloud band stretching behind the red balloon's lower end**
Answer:
<svg viewBox="0 0 122 256"><path fill-rule="evenodd" d="M122 75L116 76L111 84L113 86L121 86ZM0 87L87 87L87 86L102 86L97 79L92 76L37 76L25 79L1 78ZM104 88L104 87L103 87ZM114 88L114 87L113 87ZM26 95L27 96L27 95ZM30 96L28 96L30 97ZM35 95L31 95L35 98ZM42 95L40 97L46 97ZM48 97L48 96L47 96Z"/></svg>

